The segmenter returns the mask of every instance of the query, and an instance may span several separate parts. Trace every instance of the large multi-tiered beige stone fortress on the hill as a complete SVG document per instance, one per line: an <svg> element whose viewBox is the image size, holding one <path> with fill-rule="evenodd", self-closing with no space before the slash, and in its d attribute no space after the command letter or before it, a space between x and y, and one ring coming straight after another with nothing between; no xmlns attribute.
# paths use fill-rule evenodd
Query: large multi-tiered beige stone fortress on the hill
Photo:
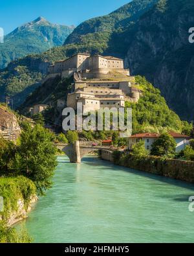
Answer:
<svg viewBox="0 0 194 256"><path fill-rule="evenodd" d="M124 60L113 56L90 56L75 54L67 60L55 62L48 67L48 78L74 75L72 92L67 96L67 107L76 110L77 103L83 111L100 108L120 108L125 101L138 102L140 89L129 69L124 69Z"/></svg>

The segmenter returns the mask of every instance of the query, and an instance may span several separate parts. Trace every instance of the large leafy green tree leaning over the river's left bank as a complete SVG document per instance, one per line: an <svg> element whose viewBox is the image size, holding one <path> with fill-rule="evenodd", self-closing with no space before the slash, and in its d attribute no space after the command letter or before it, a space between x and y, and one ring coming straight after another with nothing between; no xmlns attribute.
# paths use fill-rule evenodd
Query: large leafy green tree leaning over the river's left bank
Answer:
<svg viewBox="0 0 194 256"><path fill-rule="evenodd" d="M39 194L50 188L56 162L52 134L41 125L30 125L21 133L16 167L36 184Z"/></svg>

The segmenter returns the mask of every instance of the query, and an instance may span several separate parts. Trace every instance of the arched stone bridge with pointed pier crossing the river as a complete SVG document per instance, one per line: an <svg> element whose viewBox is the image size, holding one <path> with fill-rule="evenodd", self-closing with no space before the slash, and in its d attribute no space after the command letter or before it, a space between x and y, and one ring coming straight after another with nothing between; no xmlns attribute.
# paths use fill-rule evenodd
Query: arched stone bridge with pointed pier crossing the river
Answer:
<svg viewBox="0 0 194 256"><path fill-rule="evenodd" d="M74 144L55 144L55 146L65 152L70 159L70 163L81 163L81 159L89 152L110 148L110 146L92 146L92 144L94 143L91 141L76 141Z"/></svg>

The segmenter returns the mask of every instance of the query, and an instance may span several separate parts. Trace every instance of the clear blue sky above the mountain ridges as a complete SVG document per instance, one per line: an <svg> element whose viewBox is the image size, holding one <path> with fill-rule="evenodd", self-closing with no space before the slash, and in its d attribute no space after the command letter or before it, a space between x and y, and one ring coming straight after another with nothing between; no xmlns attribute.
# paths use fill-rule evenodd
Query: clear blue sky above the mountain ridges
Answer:
<svg viewBox="0 0 194 256"><path fill-rule="evenodd" d="M79 25L109 14L131 0L0 0L0 27L5 34L39 16L52 23Z"/></svg>

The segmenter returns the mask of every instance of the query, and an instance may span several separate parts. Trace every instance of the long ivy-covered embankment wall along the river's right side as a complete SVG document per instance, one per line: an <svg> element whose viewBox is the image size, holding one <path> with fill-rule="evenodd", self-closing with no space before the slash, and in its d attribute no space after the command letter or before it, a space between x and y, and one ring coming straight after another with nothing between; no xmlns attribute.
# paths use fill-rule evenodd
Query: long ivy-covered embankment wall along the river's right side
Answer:
<svg viewBox="0 0 194 256"><path fill-rule="evenodd" d="M141 170L176 180L194 183L194 162L178 159L162 159L162 157L148 156L137 159L129 154L102 150L101 158L116 165Z"/></svg>

